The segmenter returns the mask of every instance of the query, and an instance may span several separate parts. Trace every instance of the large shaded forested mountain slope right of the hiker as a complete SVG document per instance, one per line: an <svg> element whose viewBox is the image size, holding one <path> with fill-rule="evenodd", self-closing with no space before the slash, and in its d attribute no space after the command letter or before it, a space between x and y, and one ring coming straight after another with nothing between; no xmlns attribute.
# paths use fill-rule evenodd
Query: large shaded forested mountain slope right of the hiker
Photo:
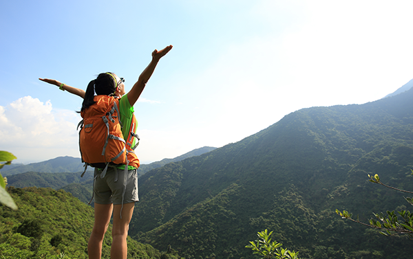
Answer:
<svg viewBox="0 0 413 259"><path fill-rule="evenodd" d="M240 142L139 179L130 234L186 258L254 258L266 228L303 258L410 258L411 241L343 221L405 206L413 190L413 89L362 105L314 107ZM400 207L399 207L400 208Z"/></svg>

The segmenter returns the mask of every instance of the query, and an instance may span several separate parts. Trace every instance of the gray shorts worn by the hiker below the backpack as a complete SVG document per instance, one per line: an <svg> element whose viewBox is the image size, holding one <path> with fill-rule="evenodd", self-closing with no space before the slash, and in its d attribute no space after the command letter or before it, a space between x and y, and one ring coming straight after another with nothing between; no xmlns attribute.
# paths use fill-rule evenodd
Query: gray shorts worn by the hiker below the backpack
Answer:
<svg viewBox="0 0 413 259"><path fill-rule="evenodd" d="M101 170L94 172L94 201L98 204L124 204L139 201L138 172L136 169L125 170L109 167L105 177ZM126 189L125 189L126 187Z"/></svg>

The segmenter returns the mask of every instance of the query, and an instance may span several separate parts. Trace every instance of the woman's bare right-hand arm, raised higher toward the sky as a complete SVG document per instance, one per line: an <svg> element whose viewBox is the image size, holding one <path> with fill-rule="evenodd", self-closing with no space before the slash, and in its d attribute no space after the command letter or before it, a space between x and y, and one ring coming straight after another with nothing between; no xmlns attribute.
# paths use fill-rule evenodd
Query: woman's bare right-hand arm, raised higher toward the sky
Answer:
<svg viewBox="0 0 413 259"><path fill-rule="evenodd" d="M142 71L138 78L138 82L135 83L134 87L132 87L131 91L127 93L127 99L129 100L129 104L134 106L135 102L138 100L140 94L142 93L143 89L145 89L145 85L147 84L149 78L151 78L153 71L155 71L156 65L162 56L165 56L170 50L172 49L172 45L165 47L165 49L161 49L158 51L155 49L152 52L152 60L151 63Z"/></svg>

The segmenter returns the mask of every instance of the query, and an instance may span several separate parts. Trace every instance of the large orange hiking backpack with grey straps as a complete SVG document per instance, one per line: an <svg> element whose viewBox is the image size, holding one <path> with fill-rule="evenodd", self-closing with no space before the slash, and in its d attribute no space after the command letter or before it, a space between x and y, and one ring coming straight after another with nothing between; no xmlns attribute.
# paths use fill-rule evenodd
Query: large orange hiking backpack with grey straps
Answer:
<svg viewBox="0 0 413 259"><path fill-rule="evenodd" d="M105 171L109 164L124 164L127 167L129 159L133 161L131 166L138 168L139 160L133 151L137 145L132 148L131 143L133 137L138 140L139 137L134 133L135 125L132 123L129 129L130 137L125 141L118 109L119 100L108 95L97 95L94 101L96 103L81 112L83 120L78 124L78 127L81 127L79 146L85 171L87 166L105 168Z"/></svg>

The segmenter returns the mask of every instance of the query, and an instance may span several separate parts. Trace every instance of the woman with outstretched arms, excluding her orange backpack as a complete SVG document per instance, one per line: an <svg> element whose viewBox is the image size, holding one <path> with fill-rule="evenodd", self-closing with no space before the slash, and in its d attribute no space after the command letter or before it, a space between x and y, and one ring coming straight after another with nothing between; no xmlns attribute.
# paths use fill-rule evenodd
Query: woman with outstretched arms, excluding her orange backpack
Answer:
<svg viewBox="0 0 413 259"><path fill-rule="evenodd" d="M152 60L148 67L142 71L138 78L138 82L134 87L125 95L125 80L119 78L113 73L103 73L89 82L86 91L70 87L69 85L62 84L58 80L52 80L47 78L39 78L44 82L58 86L63 91L68 91L83 98L83 104L81 111L85 111L90 105L94 103L94 93L97 95L116 95L120 98L119 110L120 120L123 123L123 130L128 131L131 124L131 117L134 112L134 104L138 100L140 93L142 93L145 85L153 71L155 70L158 61L162 56L165 56L172 49L172 45L165 47L160 51L154 50L152 52ZM127 135L127 132L123 132L123 135ZM137 161L139 163L139 161ZM134 164L134 163L132 163ZM125 166L118 166L123 169ZM111 258L127 258L127 234L129 230L129 223L131 221L132 214L134 212L135 202L138 201L138 175L136 172L136 166L128 166L128 170L116 170L116 168L110 168L107 170L105 177L96 177L94 183L94 227L92 234L89 238L87 245L87 254L90 259L99 258L102 254L102 243L109 225L110 218L113 213L113 226L112 226L112 247ZM116 171L116 180L114 180ZM126 172L127 175L124 175ZM98 170L95 170L95 174L99 174ZM126 182L125 182L125 179ZM124 185L127 185L124 190Z"/></svg>

